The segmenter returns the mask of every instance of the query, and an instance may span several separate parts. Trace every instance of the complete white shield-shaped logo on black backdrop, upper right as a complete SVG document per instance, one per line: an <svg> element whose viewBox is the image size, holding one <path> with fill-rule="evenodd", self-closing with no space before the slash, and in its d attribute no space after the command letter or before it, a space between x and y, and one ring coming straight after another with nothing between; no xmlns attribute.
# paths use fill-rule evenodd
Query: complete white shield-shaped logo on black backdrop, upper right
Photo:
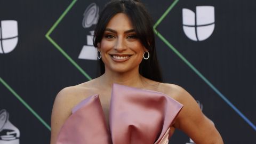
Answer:
<svg viewBox="0 0 256 144"><path fill-rule="evenodd" d="M196 14L189 9L182 9L183 30L193 41L204 41L214 30L214 7L196 6Z"/></svg>

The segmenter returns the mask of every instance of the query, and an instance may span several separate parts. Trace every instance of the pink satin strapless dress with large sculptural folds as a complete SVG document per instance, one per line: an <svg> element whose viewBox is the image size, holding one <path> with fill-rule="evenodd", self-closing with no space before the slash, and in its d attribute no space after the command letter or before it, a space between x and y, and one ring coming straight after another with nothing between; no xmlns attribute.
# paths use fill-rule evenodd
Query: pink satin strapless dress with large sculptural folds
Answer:
<svg viewBox="0 0 256 144"><path fill-rule="evenodd" d="M174 118L183 106L166 94L114 84L108 129L99 95L75 106L57 144L167 144Z"/></svg>

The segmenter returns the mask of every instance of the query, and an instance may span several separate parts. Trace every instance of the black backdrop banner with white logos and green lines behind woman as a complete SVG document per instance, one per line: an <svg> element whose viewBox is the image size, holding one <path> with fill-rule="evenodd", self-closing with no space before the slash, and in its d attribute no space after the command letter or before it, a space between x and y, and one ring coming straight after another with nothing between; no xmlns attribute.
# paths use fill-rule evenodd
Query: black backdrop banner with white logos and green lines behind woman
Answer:
<svg viewBox="0 0 256 144"><path fill-rule="evenodd" d="M108 1L0 1L0 144L49 143L55 95L97 77ZM164 82L184 87L225 143L256 142L256 2L142 1ZM170 143L194 143L176 130Z"/></svg>

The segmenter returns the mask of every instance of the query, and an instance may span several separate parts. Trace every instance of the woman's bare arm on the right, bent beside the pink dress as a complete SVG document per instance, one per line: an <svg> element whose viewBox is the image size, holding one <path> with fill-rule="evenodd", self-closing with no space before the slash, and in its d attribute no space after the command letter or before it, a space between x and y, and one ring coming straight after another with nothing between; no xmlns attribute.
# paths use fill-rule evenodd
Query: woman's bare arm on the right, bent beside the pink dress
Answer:
<svg viewBox="0 0 256 144"><path fill-rule="evenodd" d="M197 144L223 143L214 124L204 116L195 99L187 91L180 88L177 100L183 104L183 108L174 122L174 127L188 134Z"/></svg>

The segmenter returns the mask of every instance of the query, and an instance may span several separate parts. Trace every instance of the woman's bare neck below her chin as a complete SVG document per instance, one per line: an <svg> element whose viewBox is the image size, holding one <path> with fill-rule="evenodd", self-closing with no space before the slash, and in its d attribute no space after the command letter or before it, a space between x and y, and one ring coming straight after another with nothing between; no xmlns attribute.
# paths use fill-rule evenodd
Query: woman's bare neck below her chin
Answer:
<svg viewBox="0 0 256 144"><path fill-rule="evenodd" d="M139 74L139 69L126 71L125 73L115 73L106 70L105 74L101 76L101 82L108 87L112 87L113 83L116 83L141 88L143 87L142 78L143 77Z"/></svg>

